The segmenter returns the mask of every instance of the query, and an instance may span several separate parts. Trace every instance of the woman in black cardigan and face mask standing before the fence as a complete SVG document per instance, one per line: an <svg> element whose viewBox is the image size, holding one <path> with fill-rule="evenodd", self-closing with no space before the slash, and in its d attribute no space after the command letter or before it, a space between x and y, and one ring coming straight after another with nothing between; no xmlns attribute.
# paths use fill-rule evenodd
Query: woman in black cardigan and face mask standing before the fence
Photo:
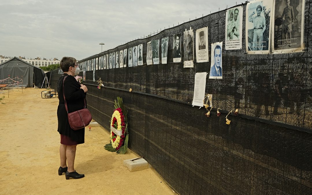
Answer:
<svg viewBox="0 0 312 195"><path fill-rule="evenodd" d="M80 85L74 78L74 76L78 75L80 72L75 58L63 57L60 62L60 66L64 74L60 76L57 82L57 93L59 98L59 105L57 107L57 131L61 134L61 166L58 170L58 174L62 175L63 173L65 173L66 179L79 179L83 178L85 175L76 172L76 170L74 169L74 162L77 144L85 143L85 128L76 131L71 129L65 109L64 96L66 98L68 112L70 113L76 110L83 109L85 105L85 95L88 89L85 85ZM65 81L63 84L64 78ZM66 165L66 160L68 167Z"/></svg>

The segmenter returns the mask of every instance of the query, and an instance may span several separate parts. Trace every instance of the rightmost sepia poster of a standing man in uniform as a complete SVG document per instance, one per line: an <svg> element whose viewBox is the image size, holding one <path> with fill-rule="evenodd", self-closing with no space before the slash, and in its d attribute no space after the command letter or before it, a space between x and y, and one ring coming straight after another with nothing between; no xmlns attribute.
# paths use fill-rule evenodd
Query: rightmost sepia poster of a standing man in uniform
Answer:
<svg viewBox="0 0 312 195"><path fill-rule="evenodd" d="M304 50L305 0L273 0L272 52Z"/></svg>

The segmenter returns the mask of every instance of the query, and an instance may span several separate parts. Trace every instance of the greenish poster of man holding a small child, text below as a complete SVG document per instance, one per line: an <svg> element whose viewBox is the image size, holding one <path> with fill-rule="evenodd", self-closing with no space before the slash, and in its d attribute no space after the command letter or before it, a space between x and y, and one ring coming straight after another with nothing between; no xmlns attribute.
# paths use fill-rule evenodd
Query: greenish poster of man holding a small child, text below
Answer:
<svg viewBox="0 0 312 195"><path fill-rule="evenodd" d="M241 49L243 7L227 9L225 20L225 50Z"/></svg>

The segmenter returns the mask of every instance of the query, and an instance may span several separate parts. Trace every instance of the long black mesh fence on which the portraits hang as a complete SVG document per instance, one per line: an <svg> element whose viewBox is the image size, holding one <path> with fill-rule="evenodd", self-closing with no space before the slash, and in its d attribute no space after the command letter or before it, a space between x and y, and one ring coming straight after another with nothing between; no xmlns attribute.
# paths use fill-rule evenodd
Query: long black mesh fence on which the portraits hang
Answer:
<svg viewBox="0 0 312 195"><path fill-rule="evenodd" d="M219 117L213 110L207 118L204 109L191 106L195 73L209 72L210 62L196 63L195 57L194 68L183 68L182 52L182 62L173 63L172 37L208 26L208 43L224 41L225 10L80 61L144 45L143 66L95 71L102 89L93 71L86 72L88 109L110 129L113 102L122 97L129 109L129 148L180 194L311 194L311 4L306 0L304 52L246 55L244 39L242 50L223 50L223 79L206 81ZM146 43L167 36L168 64L147 66ZM52 88L59 76L52 72ZM229 115L227 125L225 116L236 108L240 114Z"/></svg>

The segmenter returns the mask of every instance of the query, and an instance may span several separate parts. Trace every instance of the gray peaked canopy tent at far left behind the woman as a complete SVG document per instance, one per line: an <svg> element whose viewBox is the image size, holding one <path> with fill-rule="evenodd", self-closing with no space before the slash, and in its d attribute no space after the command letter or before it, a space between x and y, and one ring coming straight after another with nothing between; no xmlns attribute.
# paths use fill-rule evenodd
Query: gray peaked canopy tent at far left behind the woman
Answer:
<svg viewBox="0 0 312 195"><path fill-rule="evenodd" d="M10 78L18 77L23 79L22 85L19 84L19 86L23 87L33 87L33 84L35 84L35 86L41 88L45 78L45 73L41 68L33 66L18 57L13 57L0 64L0 80L7 79L9 75Z"/></svg>

